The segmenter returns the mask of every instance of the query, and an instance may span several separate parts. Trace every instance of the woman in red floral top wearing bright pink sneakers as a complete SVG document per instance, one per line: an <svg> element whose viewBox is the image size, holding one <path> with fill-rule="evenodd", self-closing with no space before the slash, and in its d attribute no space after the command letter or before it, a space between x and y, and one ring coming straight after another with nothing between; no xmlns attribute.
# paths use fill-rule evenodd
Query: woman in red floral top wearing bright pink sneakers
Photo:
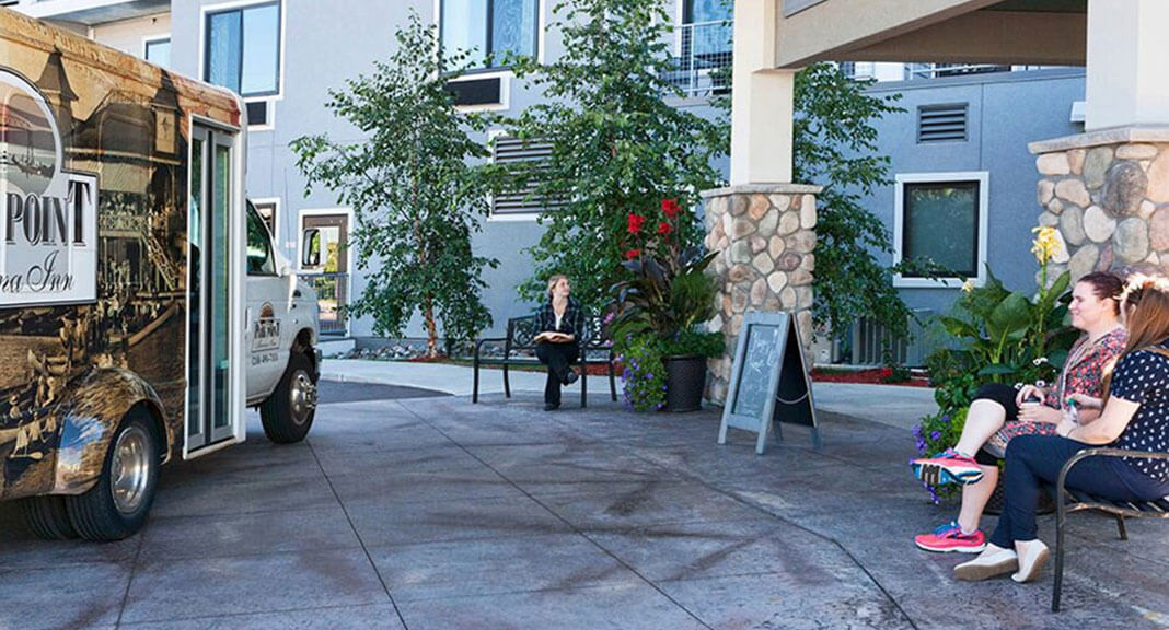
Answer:
<svg viewBox="0 0 1169 630"><path fill-rule="evenodd" d="M998 483L998 459L1007 443L1026 434L1054 435L1056 425L1072 415L1066 403L1071 395L1099 400L1104 375L1125 347L1127 334L1120 324L1120 278L1112 274L1088 274L1072 289L1072 326L1084 334L1067 354L1064 371L1054 387L1025 385L1018 390L1002 383L978 389L962 427L962 437L953 449L933 457L915 459L914 475L933 485L959 483L962 508L957 520L914 538L929 552L978 553L987 539L978 529L982 511ZM1040 402L1042 401L1042 402ZM1087 423L1097 410L1079 413Z"/></svg>

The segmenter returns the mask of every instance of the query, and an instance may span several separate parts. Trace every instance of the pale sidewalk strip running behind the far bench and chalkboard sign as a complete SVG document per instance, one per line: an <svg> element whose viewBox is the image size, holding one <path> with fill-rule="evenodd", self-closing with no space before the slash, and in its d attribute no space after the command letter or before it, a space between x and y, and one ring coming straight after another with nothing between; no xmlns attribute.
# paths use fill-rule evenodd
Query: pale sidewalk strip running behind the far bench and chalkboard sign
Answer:
<svg viewBox="0 0 1169 630"><path fill-rule="evenodd" d="M512 394L544 392L542 372L509 371ZM320 376L331 381L397 385L470 396L473 369L449 364L325 359ZM574 386L570 388L575 390ZM479 395L503 394L502 369L479 369ZM621 395L621 380L617 380ZM566 399L568 400L568 399ZM589 401L609 400L607 376L589 376ZM817 411L859 417L908 430L918 418L938 410L934 390L892 385L812 383Z"/></svg>

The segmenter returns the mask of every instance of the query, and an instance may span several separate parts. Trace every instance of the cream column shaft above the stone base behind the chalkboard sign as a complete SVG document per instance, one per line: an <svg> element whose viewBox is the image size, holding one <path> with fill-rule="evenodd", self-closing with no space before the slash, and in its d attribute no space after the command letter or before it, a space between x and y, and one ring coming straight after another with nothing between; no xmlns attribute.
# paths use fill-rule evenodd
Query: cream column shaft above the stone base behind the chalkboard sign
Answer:
<svg viewBox="0 0 1169 630"><path fill-rule="evenodd" d="M791 181L795 70L775 69L777 0L735 0L731 184Z"/></svg>

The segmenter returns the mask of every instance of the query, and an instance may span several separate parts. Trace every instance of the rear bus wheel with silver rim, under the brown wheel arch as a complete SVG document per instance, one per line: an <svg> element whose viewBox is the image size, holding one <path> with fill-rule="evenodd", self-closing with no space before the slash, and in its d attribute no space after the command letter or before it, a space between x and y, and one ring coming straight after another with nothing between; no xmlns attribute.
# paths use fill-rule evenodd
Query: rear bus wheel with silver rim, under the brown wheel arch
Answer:
<svg viewBox="0 0 1169 630"><path fill-rule="evenodd" d="M105 452L97 484L65 497L69 520L87 540L122 540L138 532L154 504L159 473L158 436L145 409L132 409Z"/></svg>

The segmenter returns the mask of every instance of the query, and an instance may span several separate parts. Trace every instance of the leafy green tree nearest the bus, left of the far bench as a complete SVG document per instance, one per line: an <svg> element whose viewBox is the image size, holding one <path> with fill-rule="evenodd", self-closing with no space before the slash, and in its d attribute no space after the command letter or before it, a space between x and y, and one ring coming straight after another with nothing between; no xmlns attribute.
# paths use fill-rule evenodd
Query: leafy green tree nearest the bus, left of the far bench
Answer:
<svg viewBox="0 0 1169 630"><path fill-rule="evenodd" d="M413 12L395 36L388 62L331 90L326 104L367 139L346 144L317 134L291 146L305 194L324 185L354 209L352 250L369 276L350 313L372 316L375 333L399 337L421 312L427 353L435 356L440 324L449 340L461 341L491 325L480 274L498 262L471 251L491 176L478 164L487 150L469 134L484 123L458 112L447 88L468 55L444 57L435 29Z"/></svg>

